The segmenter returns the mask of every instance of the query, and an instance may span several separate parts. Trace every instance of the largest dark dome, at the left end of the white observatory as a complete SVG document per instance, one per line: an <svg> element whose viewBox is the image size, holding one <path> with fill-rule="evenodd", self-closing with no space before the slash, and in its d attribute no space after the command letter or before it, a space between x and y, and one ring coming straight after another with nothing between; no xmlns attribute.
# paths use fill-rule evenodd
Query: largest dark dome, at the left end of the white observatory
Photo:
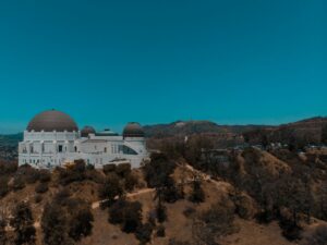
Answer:
<svg viewBox="0 0 327 245"><path fill-rule="evenodd" d="M44 111L32 119L28 123L27 131L35 131L35 132L77 132L78 127L75 121L68 114L56 111L49 110Z"/></svg>

